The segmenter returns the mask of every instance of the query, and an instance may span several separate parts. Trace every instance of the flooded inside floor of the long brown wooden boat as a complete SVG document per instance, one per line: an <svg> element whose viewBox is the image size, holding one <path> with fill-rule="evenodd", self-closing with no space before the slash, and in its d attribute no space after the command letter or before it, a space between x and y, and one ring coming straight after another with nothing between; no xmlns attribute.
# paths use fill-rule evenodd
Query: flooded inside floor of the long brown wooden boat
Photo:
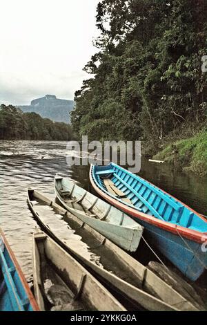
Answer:
<svg viewBox="0 0 207 325"><path fill-rule="evenodd" d="M34 199L36 200L36 198ZM112 253L93 234L82 228L74 219L67 218L64 214L55 212L55 209L42 201L32 201L34 211L38 212L44 224L61 241L67 243L72 250L77 251L85 259L96 263L101 268L108 270L121 279L128 281L133 286L141 288L137 276L124 267L115 253Z"/></svg>

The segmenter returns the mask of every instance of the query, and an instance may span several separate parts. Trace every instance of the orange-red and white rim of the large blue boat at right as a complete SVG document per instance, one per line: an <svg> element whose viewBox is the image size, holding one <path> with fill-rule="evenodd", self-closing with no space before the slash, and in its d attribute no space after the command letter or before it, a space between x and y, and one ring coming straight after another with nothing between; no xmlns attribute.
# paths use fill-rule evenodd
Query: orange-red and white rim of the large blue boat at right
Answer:
<svg viewBox="0 0 207 325"><path fill-rule="evenodd" d="M145 214L144 212L140 212L136 208L133 208L132 205L128 205L127 203L122 203L121 201L118 201L117 198L112 196L112 194L110 194L109 192L107 192L105 189L101 188L97 184L97 180L96 180L96 178L95 178L95 176L93 174L93 171L94 171L93 167L95 167L95 165L91 164L90 165L90 175L89 175L90 183L94 187L95 191L99 195L101 195L103 198L105 198L108 202L110 202L112 205L115 205L119 209L121 209L124 212L130 214L131 216L134 216L137 219L141 219L142 221L146 221L146 223L150 223L152 225L155 225L155 226L157 226L157 227L159 227L159 228L161 228L163 230L167 230L168 232L172 232L173 234L180 234L181 236L186 237L186 239L193 240L193 241L195 241L197 243L204 243L207 240L207 232L199 232L197 230L192 230L192 229L183 227L181 225L176 225L175 223L170 223L168 221L163 221L163 220L157 219L155 216L150 216L149 214ZM120 169L122 169L123 171L126 171L127 174L135 175L135 174L132 174L130 171L127 171L126 169L124 169L122 167L120 167ZM142 179L144 180L144 178L142 178ZM146 182L148 182L148 181L146 180ZM150 183L150 182L148 182L148 183ZM152 183L150 183L150 185L155 186ZM157 188L159 189L159 187L157 187ZM160 190L163 191L165 194L168 194L163 189L160 189ZM168 194L168 195L172 196L171 194ZM172 196L172 198L175 198L175 197ZM177 200L177 198L175 198L175 200ZM177 201L179 201L179 200L177 200ZM201 216L201 214L199 214L198 212L195 212L195 210L188 207L188 205L186 205L185 203L183 203L181 201L179 201L179 203L181 203L182 205L187 207L190 211L197 214L197 216L199 216L201 219L206 221L205 217Z"/></svg>

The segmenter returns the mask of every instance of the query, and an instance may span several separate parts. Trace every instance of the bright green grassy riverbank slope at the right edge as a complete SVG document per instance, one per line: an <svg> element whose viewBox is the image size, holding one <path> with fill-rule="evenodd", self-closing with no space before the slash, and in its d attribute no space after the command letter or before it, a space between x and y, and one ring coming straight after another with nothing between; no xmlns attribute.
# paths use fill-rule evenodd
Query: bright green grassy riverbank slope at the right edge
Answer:
<svg viewBox="0 0 207 325"><path fill-rule="evenodd" d="M207 175L207 131L182 140L171 140L153 159L164 160L183 171Z"/></svg>

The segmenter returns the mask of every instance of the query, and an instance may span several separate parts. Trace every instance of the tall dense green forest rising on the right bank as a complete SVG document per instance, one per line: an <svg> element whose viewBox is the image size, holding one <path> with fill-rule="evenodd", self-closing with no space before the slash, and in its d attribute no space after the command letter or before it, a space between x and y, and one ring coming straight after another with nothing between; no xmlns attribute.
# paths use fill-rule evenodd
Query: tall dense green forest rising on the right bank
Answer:
<svg viewBox="0 0 207 325"><path fill-rule="evenodd" d="M75 131L155 149L173 133L203 127L207 1L103 0L96 19L98 51L84 68L90 79L75 93Z"/></svg>

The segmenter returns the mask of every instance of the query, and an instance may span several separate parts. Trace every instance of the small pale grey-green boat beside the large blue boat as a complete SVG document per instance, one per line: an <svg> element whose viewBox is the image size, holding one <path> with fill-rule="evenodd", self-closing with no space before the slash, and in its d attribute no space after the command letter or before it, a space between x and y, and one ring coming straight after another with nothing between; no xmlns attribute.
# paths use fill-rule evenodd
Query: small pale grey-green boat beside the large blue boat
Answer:
<svg viewBox="0 0 207 325"><path fill-rule="evenodd" d="M90 194L69 178L55 177L55 193L63 207L81 221L124 250L137 250L143 228L130 216Z"/></svg>

